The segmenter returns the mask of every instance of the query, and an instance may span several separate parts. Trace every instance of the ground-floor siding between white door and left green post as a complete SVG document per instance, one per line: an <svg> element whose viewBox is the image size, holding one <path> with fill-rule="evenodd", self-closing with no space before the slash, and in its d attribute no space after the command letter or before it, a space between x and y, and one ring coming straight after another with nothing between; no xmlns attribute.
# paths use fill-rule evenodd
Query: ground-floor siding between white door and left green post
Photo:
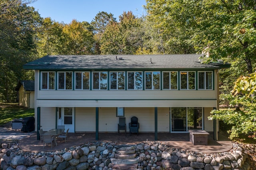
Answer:
<svg viewBox="0 0 256 170"><path fill-rule="evenodd" d="M96 109L92 107L75 108L76 132L95 132Z"/></svg>

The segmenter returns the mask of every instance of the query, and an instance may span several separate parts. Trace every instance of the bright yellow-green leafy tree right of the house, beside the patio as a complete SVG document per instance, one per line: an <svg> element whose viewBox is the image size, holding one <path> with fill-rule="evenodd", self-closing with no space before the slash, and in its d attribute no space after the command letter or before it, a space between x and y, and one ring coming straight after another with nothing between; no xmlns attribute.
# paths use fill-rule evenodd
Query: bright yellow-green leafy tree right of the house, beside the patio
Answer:
<svg viewBox="0 0 256 170"><path fill-rule="evenodd" d="M224 123L232 125L230 138L238 138L240 134L247 134L256 139L256 72L248 76L241 76L237 79L232 90L233 97L231 98L231 105L237 103L242 105L244 111L218 111L211 112L208 119L219 119ZM253 135L251 135L253 133Z"/></svg>

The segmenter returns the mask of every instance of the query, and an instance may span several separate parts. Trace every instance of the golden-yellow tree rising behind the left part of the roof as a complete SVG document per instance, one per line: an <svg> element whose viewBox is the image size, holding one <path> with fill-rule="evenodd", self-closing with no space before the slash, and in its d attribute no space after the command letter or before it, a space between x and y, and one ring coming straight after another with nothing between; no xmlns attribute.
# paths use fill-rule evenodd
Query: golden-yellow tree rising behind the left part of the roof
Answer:
<svg viewBox="0 0 256 170"><path fill-rule="evenodd" d="M62 54L92 54L93 34L88 30L85 23L72 20L63 28L63 51Z"/></svg>

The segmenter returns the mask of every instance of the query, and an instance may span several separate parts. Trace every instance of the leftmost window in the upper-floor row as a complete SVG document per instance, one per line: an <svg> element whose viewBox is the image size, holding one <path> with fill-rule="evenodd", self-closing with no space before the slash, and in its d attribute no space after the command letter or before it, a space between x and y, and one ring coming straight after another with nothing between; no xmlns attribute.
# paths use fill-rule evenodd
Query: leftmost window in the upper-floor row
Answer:
<svg viewBox="0 0 256 170"><path fill-rule="evenodd" d="M55 72L42 72L41 89L55 89Z"/></svg>

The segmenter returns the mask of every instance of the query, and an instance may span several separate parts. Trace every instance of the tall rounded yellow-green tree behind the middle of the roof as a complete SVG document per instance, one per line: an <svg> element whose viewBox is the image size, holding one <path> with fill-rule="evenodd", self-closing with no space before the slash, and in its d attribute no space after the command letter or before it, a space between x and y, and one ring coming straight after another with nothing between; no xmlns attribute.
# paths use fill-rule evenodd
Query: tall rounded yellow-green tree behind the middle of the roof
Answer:
<svg viewBox="0 0 256 170"><path fill-rule="evenodd" d="M119 22L111 22L102 34L100 50L102 54L134 54L143 44L140 36L142 20L132 12L124 12Z"/></svg>

